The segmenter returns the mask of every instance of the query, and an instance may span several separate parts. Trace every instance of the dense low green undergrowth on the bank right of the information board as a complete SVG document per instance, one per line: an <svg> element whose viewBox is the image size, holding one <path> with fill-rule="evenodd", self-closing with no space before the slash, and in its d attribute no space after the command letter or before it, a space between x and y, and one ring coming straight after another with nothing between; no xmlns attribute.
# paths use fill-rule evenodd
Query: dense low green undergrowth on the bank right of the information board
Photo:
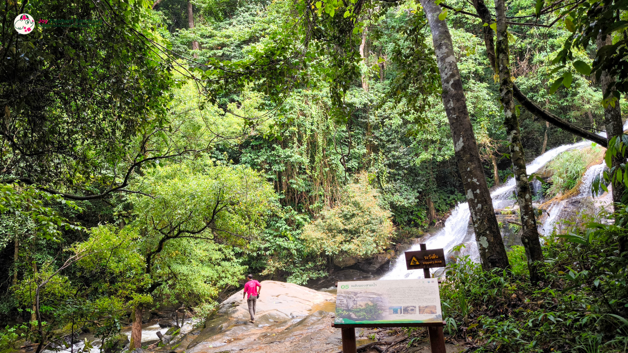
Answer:
<svg viewBox="0 0 628 353"><path fill-rule="evenodd" d="M445 332L475 352L625 352L626 234L624 225L591 218L566 224L546 237L538 286L521 247L509 253L512 273L459 258L441 285Z"/></svg>

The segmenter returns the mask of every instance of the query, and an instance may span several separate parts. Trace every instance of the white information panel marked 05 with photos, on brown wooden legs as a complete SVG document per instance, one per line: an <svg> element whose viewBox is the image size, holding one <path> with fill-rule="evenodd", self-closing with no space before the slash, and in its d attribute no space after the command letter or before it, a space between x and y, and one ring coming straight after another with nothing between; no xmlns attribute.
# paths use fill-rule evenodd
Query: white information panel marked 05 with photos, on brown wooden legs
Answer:
<svg viewBox="0 0 628 353"><path fill-rule="evenodd" d="M335 327L343 324L442 323L438 280L338 282Z"/></svg>

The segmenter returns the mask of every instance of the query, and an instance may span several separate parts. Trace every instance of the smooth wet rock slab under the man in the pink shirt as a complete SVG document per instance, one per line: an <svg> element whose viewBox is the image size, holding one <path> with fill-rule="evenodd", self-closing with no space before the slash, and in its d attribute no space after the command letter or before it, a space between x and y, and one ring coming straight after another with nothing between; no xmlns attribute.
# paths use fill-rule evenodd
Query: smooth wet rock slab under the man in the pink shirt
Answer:
<svg viewBox="0 0 628 353"><path fill-rule="evenodd" d="M175 352L326 352L337 349L340 330L332 329L335 296L278 281L263 281L256 322L249 322L242 291L223 301L205 329ZM322 310L318 310L322 308Z"/></svg>

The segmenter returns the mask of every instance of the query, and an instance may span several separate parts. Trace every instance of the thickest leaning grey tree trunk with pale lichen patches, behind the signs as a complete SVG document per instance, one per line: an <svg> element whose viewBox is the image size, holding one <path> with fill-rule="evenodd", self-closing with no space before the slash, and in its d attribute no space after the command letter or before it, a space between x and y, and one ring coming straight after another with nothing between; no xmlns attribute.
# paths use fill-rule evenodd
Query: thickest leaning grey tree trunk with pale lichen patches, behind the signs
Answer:
<svg viewBox="0 0 628 353"><path fill-rule="evenodd" d="M420 0L430 23L436 63L443 89L443 105L452 130L454 152L462 176L482 268L509 268L504 241L495 218L493 202L484 176L480 151L467 111L458 63L447 23L438 19L442 9L433 0Z"/></svg>

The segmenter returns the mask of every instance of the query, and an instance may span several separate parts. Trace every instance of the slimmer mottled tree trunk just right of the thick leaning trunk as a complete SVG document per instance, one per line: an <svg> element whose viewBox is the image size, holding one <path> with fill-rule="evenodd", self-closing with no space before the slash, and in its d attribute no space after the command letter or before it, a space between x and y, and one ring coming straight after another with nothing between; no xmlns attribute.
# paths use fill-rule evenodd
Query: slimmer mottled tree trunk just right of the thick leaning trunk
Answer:
<svg viewBox="0 0 628 353"><path fill-rule="evenodd" d="M521 144L521 131L519 131L519 119L515 113L514 97L512 93L512 79L510 73L510 60L508 50L508 33L506 24L506 4L504 0L495 0L495 14L497 14L497 69L499 70L499 99L504 106L504 128L508 136L512 171L517 183L517 202L523 234L521 242L526 249L528 257L528 269L530 281L537 283L541 280L539 273L539 261L543 261L543 249L539 241L539 231L536 227L536 217L532 206L532 190L528 182L526 172L526 160Z"/></svg>

